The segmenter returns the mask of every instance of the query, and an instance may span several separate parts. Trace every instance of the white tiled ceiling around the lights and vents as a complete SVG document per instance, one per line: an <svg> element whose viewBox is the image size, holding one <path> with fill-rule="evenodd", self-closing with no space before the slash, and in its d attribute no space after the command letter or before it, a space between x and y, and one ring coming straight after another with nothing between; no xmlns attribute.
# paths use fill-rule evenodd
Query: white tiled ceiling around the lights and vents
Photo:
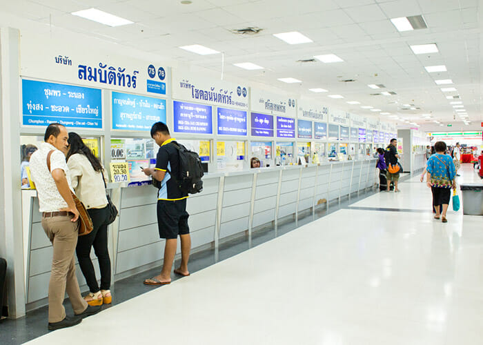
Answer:
<svg viewBox="0 0 483 345"><path fill-rule="evenodd" d="M0 0L0 25L6 17L22 19L14 26L69 30L141 50L160 59L186 63L192 70L209 70L221 75L221 55L201 56L179 46L201 44L224 52L228 79L245 79L255 85L295 92L336 108L362 115L375 113L360 106L373 106L391 115L422 125L423 130L475 130L480 128L482 99L480 57L483 45L483 0ZM110 28L72 16L70 12L95 7L135 21ZM398 32L390 19L422 14L427 29ZM4 22L2 22L2 20ZM12 25L12 21L8 22ZM230 30L257 26L262 32L241 36ZM273 37L279 32L299 31L313 43L289 45ZM107 42L106 42L107 43ZM437 43L438 53L415 55L410 45ZM482 47L483 48L483 47ZM298 63L314 55L335 54L344 62ZM264 70L246 71L233 63L252 62ZM447 72L428 73L424 66L446 65ZM294 77L302 83L277 81ZM355 79L344 83L341 79ZM442 92L435 79L452 79L457 92ZM384 84L373 90L367 84ZM309 88L324 88L314 94ZM381 91L397 95L371 95ZM329 94L344 95L334 100ZM455 113L446 95L460 95L471 126L453 120ZM346 101L359 101L351 106ZM402 110L404 104L417 110ZM445 128L423 121L431 113ZM381 115L382 119L389 119ZM458 117L456 117L458 119ZM405 125L397 120L399 125Z"/></svg>

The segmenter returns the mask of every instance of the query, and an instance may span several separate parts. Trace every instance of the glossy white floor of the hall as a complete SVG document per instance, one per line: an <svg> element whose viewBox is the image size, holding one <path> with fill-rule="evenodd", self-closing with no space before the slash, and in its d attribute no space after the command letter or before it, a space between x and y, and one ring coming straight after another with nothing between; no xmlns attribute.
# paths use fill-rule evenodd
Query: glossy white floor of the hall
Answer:
<svg viewBox="0 0 483 345"><path fill-rule="evenodd" d="M400 188L28 344L481 345L482 217Z"/></svg>

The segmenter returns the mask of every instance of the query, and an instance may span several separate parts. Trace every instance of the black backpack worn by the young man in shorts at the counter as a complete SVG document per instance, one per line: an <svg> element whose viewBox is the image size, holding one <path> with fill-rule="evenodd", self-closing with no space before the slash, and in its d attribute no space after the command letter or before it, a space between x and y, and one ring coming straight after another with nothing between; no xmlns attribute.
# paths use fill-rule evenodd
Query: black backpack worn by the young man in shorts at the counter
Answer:
<svg viewBox="0 0 483 345"><path fill-rule="evenodd" d="M179 153L179 176L172 176L176 179L179 189L184 194L196 194L203 190L203 181L201 177L204 176L203 166L201 166L201 159L196 152L190 151L181 144L170 143L177 148ZM156 188L161 188L161 182L152 179L152 185Z"/></svg>

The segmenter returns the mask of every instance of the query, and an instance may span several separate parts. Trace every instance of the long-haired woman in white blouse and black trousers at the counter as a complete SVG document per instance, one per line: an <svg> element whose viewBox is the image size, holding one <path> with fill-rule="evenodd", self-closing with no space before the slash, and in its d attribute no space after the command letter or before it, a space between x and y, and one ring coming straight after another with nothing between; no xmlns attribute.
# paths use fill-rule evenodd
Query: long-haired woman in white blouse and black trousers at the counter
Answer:
<svg viewBox="0 0 483 345"><path fill-rule="evenodd" d="M89 235L79 236L76 253L83 276L86 278L90 293L84 297L91 306L110 304L110 258L108 252L108 200L101 162L83 143L75 132L69 133L67 165L75 194L87 208L94 229ZM94 247L101 271L101 286L90 259L90 248Z"/></svg>

